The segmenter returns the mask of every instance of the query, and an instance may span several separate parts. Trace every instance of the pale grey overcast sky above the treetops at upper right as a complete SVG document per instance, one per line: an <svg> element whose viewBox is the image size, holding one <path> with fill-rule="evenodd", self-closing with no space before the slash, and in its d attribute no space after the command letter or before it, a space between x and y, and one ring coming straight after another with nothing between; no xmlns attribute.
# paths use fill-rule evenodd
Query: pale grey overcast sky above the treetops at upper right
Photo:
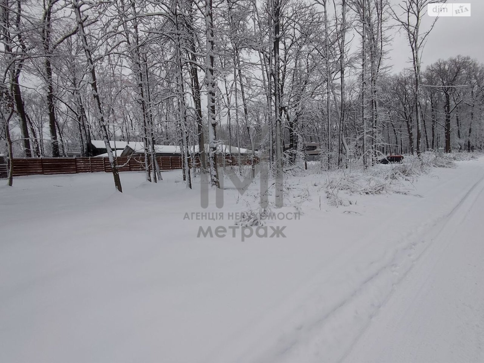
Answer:
<svg viewBox="0 0 484 363"><path fill-rule="evenodd" d="M392 1L395 4L399 2L399 0ZM458 54L484 62L484 0L449 0L448 2L470 3L471 16L439 17L423 49L423 69L440 58L446 59ZM428 29L434 19L425 15L423 28ZM411 66L408 62L410 55L408 38L404 37L401 30L395 34L391 48L387 63L393 65L393 72L397 73Z"/></svg>

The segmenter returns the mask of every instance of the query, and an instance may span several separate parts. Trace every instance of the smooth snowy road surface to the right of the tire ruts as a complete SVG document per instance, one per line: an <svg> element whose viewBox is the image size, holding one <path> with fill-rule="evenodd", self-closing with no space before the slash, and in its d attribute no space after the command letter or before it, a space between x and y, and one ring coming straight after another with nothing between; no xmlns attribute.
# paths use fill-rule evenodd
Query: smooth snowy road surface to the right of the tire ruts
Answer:
<svg viewBox="0 0 484 363"><path fill-rule="evenodd" d="M484 180L422 235L428 244L345 357L484 362Z"/></svg>

